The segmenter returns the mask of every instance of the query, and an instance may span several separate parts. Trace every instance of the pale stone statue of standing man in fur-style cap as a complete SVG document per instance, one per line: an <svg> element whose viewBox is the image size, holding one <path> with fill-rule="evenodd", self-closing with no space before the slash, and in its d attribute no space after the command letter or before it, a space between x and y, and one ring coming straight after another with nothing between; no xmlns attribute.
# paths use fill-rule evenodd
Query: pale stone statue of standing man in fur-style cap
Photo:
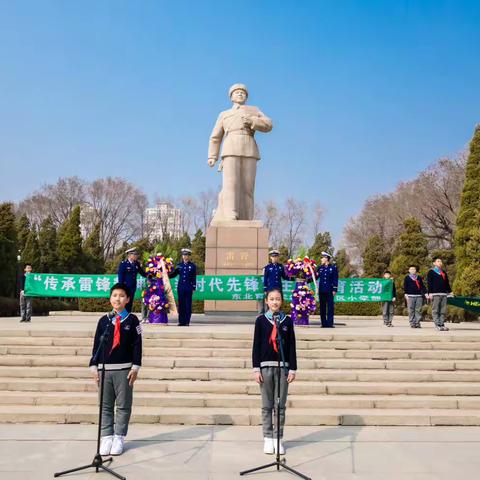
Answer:
<svg viewBox="0 0 480 480"><path fill-rule="evenodd" d="M223 171L223 186L212 224L229 220L253 220L254 191L257 162L260 160L255 132L269 132L272 121L257 107L245 105L248 90L236 83L229 90L232 108L221 112L213 127L208 148L208 164L218 160Z"/></svg>

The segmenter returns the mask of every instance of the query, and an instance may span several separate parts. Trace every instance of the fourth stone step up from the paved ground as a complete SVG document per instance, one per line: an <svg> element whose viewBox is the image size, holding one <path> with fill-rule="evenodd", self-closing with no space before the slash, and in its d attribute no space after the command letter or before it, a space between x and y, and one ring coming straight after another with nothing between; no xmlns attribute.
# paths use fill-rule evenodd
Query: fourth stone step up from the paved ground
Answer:
<svg viewBox="0 0 480 480"><path fill-rule="evenodd" d="M10 378L91 378L85 367L55 368L19 366L0 367L0 377ZM140 371L140 379L152 380L228 380L245 382L252 380L250 369L205 369L205 368L149 368ZM411 370L375 369L342 370L315 369L301 370L298 380L306 382L480 382L480 371L472 370Z"/></svg>

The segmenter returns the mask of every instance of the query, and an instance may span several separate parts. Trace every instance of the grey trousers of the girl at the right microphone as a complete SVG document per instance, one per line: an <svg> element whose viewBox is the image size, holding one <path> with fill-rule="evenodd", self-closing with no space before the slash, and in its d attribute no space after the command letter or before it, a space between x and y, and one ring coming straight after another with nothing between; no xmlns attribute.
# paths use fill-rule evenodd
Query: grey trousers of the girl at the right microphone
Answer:
<svg viewBox="0 0 480 480"><path fill-rule="evenodd" d="M277 436L277 396L278 396L278 367L262 368L263 383L260 384L262 393L262 424L265 438ZM283 368L280 369L280 438L283 438L285 425L285 409L287 404L288 383ZM274 419L272 418L274 416ZM275 429L273 428L275 425Z"/></svg>

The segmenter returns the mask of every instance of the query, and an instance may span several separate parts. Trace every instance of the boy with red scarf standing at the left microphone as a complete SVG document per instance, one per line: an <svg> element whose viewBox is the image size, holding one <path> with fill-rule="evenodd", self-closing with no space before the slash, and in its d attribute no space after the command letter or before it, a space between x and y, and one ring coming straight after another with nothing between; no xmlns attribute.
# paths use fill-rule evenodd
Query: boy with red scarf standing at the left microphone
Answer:
<svg viewBox="0 0 480 480"><path fill-rule="evenodd" d="M110 290L113 311L100 318L95 332L90 369L97 384L99 370L105 368L100 455L123 453L132 413L133 384L142 364L142 330L138 318L126 309L129 300L128 287L116 283ZM104 351L96 355L105 333Z"/></svg>

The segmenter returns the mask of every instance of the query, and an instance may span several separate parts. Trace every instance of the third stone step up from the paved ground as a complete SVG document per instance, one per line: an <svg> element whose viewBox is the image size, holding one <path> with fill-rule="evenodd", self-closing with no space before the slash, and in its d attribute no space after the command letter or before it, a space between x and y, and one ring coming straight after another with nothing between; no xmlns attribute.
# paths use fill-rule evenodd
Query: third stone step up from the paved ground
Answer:
<svg viewBox="0 0 480 480"><path fill-rule="evenodd" d="M97 386L91 379L68 378L0 378L0 391L11 392L94 392ZM222 393L259 395L253 381L193 381L142 379L135 385L137 392ZM290 385L292 395L480 395L478 382L358 382L303 381Z"/></svg>

